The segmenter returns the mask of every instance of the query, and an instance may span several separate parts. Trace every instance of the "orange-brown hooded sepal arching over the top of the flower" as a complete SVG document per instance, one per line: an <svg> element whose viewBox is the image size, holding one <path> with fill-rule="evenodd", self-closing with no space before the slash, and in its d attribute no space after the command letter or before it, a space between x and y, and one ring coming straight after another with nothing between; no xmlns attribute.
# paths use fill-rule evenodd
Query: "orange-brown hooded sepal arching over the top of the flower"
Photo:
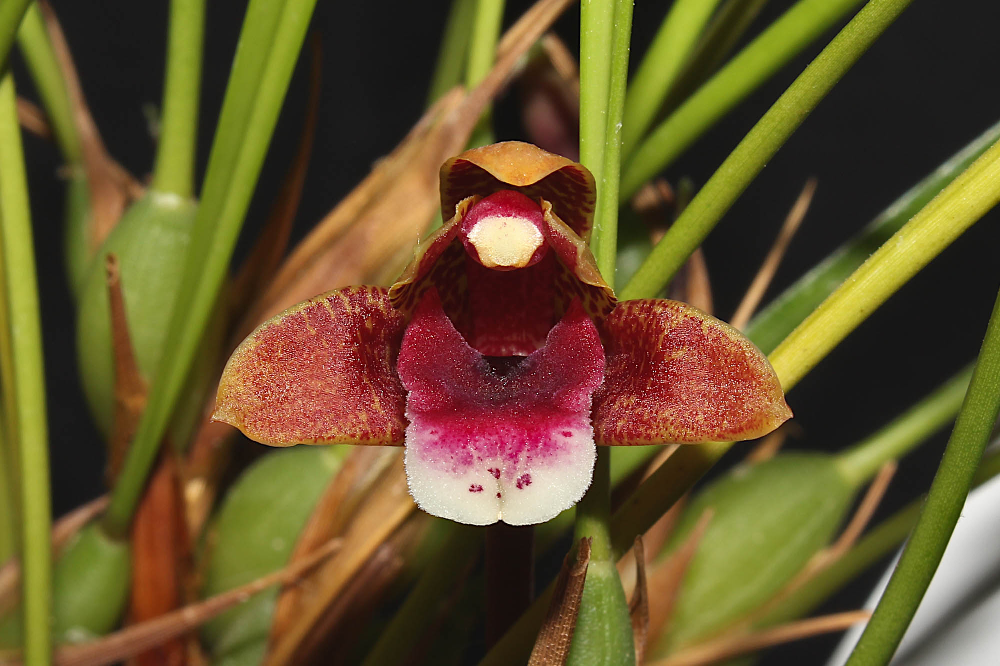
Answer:
<svg viewBox="0 0 1000 666"><path fill-rule="evenodd" d="M504 141L467 150L441 166L441 211L448 218L462 199L517 190L551 201L574 232L589 238L597 189L582 164L530 143Z"/></svg>

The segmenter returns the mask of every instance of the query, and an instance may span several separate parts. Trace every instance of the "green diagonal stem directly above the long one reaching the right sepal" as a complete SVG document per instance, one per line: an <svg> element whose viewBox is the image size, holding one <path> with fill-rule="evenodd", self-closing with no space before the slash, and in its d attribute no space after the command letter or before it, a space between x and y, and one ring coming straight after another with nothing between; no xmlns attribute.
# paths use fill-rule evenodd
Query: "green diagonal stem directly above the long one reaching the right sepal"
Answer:
<svg viewBox="0 0 1000 666"><path fill-rule="evenodd" d="M859 4L861 0L800 0L785 12L646 137L625 165L622 198L635 194L643 183L666 168L761 83ZM835 60L844 55L847 54L827 53L828 58L834 56ZM847 66L851 64L853 61ZM831 78L821 83L832 87L840 78L833 71L835 68L824 72ZM823 94L825 90L819 98ZM805 110L799 122L811 108ZM791 130L795 127L798 123Z"/></svg>

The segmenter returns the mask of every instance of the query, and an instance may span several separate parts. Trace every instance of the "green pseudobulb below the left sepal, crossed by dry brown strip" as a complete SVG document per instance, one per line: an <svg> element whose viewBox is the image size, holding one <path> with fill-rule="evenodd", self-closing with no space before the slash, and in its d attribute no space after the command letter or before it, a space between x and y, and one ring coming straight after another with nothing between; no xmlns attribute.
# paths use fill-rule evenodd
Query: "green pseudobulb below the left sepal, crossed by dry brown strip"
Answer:
<svg viewBox="0 0 1000 666"><path fill-rule="evenodd" d="M347 448L298 446L275 451L243 473L223 500L207 540L205 597L285 566ZM203 627L213 662L261 663L277 596L272 587Z"/></svg>

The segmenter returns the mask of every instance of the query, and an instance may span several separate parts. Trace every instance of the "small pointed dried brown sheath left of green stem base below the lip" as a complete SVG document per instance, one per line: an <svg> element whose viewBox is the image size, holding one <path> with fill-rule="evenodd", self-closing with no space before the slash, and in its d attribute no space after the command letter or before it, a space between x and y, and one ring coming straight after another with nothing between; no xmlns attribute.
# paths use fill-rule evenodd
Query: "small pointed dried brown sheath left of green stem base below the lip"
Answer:
<svg viewBox="0 0 1000 666"><path fill-rule="evenodd" d="M587 566L590 564L590 541L589 537L580 539L575 559L572 559L571 552L563 560L552 602L538 631L528 666L562 666L566 663L580 612Z"/></svg>

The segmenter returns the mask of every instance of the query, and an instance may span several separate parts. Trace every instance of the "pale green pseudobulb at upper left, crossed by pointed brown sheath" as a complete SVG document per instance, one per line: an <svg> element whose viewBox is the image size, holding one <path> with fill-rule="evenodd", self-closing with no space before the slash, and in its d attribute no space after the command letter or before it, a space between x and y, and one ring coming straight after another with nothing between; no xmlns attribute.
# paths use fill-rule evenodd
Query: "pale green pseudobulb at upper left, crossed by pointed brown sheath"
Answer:
<svg viewBox="0 0 1000 666"><path fill-rule="evenodd" d="M160 360L191 241L195 202L150 191L133 204L105 240L97 258L118 257L129 333L147 380ZM91 413L111 432L114 350L104 261L93 261L77 314L80 376Z"/></svg>

